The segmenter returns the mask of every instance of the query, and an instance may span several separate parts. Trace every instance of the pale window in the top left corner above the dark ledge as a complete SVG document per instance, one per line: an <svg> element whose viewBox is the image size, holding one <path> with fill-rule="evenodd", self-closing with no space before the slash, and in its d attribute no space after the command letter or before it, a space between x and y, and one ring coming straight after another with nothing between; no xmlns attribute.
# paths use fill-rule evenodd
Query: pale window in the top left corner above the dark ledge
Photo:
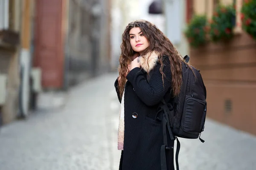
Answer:
<svg viewBox="0 0 256 170"><path fill-rule="evenodd" d="M0 0L0 30L9 28L9 0Z"/></svg>

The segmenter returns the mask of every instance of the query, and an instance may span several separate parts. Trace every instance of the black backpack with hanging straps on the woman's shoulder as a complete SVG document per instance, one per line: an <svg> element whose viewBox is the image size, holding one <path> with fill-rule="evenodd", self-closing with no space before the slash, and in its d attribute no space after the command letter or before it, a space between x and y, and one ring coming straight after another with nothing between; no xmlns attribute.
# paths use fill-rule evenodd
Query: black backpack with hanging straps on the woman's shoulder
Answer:
<svg viewBox="0 0 256 170"><path fill-rule="evenodd" d="M167 146L167 137L171 140L177 139L177 137L187 139L199 139L201 132L204 131L204 123L207 111L206 102L206 88L204 86L203 79L200 71L186 64L189 61L189 56L184 57L185 62L182 63L182 85L180 88L180 94L176 98L170 99L168 104L172 105L172 108L168 107L166 102L163 102L163 141L164 144L161 147L161 168L166 170L166 149L174 149L174 146ZM169 132L169 135L167 135ZM174 142L173 142L174 143ZM180 142L177 139L176 149L176 169L179 170L178 154L180 150Z"/></svg>

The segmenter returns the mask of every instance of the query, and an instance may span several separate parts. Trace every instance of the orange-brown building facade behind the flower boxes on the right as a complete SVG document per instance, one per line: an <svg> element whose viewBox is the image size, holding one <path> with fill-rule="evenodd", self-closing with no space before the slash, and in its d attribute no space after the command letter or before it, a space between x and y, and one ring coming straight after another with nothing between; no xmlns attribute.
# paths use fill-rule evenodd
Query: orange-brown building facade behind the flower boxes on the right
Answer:
<svg viewBox="0 0 256 170"><path fill-rule="evenodd" d="M191 63L200 69L207 88L207 116L256 134L256 41L241 29L243 0L187 0L187 20L193 13L210 19L218 3L236 6L235 37L190 48Z"/></svg>

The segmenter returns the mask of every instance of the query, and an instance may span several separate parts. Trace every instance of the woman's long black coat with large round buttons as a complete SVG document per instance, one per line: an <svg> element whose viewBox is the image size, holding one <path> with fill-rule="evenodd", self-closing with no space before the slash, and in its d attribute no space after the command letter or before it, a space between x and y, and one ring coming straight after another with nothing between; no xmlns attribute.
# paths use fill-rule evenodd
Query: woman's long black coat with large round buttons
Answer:
<svg viewBox="0 0 256 170"><path fill-rule="evenodd" d="M124 150L119 170L161 170L160 147L163 145L163 111L161 99L170 98L171 68L168 57L164 60L163 73L160 73L158 57L148 60L149 68L134 68L127 75L125 85L125 131ZM146 71L145 71L146 70ZM149 77L147 78L147 72ZM149 79L149 80L148 80ZM116 92L118 81L115 82ZM159 112L160 110L160 112ZM137 115L134 118L133 115ZM169 141L168 145L172 145ZM173 150L166 150L167 169L174 170Z"/></svg>

